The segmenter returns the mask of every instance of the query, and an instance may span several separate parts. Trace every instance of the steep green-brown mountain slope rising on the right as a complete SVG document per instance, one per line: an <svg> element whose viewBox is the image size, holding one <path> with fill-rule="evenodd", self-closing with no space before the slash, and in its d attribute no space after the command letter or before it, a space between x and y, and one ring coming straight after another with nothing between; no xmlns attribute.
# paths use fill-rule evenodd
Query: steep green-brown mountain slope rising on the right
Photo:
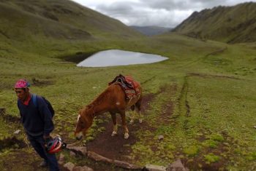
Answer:
<svg viewBox="0 0 256 171"><path fill-rule="evenodd" d="M256 3L194 12L173 31L227 43L256 41Z"/></svg>

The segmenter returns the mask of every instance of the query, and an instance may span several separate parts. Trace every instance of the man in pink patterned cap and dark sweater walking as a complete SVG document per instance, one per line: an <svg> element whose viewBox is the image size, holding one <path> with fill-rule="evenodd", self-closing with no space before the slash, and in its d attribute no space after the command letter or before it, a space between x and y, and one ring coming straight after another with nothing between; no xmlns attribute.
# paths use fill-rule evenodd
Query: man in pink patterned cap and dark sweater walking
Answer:
<svg viewBox="0 0 256 171"><path fill-rule="evenodd" d="M39 166L48 166L50 171L59 170L55 154L48 154L45 151L45 143L50 139L50 132L54 128L52 116L47 104L38 95L36 96L37 106L35 106L32 94L29 92L29 87L30 84L26 79L20 79L15 84L21 122L31 146L44 159Z"/></svg>

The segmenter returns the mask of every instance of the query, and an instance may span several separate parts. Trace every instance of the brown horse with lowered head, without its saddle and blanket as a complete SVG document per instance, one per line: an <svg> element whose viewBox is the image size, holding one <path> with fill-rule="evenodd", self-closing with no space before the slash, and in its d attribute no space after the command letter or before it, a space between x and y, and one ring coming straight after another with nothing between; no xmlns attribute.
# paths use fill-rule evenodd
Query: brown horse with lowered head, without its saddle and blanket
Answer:
<svg viewBox="0 0 256 171"><path fill-rule="evenodd" d="M138 84L138 89L140 90L140 95L135 98L127 99L124 90L118 85L118 83L113 83L108 86L108 88L102 92L94 101L92 101L88 106L82 108L78 114L78 123L75 128L75 138L80 140L86 135L86 131L89 130L93 119L99 114L109 112L113 121L113 132L111 136L117 134L117 124L116 124L116 114L121 115L121 122L124 128L124 138L129 138L129 130L127 128L127 123L125 119L125 111L129 108L132 111L137 111L139 114L139 122L142 122L140 117L140 106L142 100L142 89L140 84ZM131 123L133 122L133 119Z"/></svg>

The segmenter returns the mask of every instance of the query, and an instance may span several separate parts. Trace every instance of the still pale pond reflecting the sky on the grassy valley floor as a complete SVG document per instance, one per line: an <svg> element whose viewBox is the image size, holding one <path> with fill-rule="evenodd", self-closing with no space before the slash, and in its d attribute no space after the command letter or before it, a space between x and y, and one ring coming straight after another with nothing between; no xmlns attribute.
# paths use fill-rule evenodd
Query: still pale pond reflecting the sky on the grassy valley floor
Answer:
<svg viewBox="0 0 256 171"><path fill-rule="evenodd" d="M86 58L86 60L78 63L77 66L102 67L142 63L157 63L159 61L167 59L168 57L162 57L160 55L151 55L140 52L129 52L124 50L112 49L97 52L96 54Z"/></svg>

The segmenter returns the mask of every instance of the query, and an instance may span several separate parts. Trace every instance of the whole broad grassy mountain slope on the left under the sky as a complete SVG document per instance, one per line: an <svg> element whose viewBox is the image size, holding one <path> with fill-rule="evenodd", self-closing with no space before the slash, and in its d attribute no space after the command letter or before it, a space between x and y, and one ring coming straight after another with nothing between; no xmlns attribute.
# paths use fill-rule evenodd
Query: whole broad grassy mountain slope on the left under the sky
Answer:
<svg viewBox="0 0 256 171"><path fill-rule="evenodd" d="M69 0L0 0L0 8L0 35L10 39L142 36L118 20Z"/></svg>

